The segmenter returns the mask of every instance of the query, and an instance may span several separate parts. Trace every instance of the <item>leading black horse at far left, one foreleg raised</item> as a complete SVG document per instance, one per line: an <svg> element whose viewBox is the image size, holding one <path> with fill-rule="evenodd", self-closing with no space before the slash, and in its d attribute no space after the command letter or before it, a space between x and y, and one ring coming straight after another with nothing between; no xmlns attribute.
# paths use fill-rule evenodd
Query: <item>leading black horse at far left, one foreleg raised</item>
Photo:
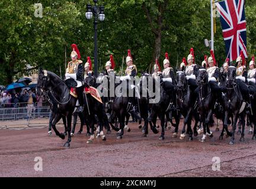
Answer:
<svg viewBox="0 0 256 189"><path fill-rule="evenodd" d="M72 121L72 113L75 112L76 109L76 101L77 99L70 94L70 90L68 86L66 86L65 82L57 76L55 73L51 71L39 69L39 79L37 83L37 92L41 94L51 94L50 101L56 102L57 105L57 113L52 122L52 128L55 131L56 135L62 139L65 139L65 135L63 133L59 133L56 129L56 123L59 122L62 116L66 116L67 119L67 128L68 128L68 141L65 142L64 146L69 147L71 142L71 121ZM100 111L100 103L94 99L90 94L85 95L85 106L88 108L85 109L89 115L94 114L95 112ZM95 113L96 114L96 113ZM102 117L101 117L102 118ZM102 131L102 129L101 129ZM92 128L91 138L88 140L89 142L93 139L93 128ZM102 138L105 140L105 135L102 132Z"/></svg>

